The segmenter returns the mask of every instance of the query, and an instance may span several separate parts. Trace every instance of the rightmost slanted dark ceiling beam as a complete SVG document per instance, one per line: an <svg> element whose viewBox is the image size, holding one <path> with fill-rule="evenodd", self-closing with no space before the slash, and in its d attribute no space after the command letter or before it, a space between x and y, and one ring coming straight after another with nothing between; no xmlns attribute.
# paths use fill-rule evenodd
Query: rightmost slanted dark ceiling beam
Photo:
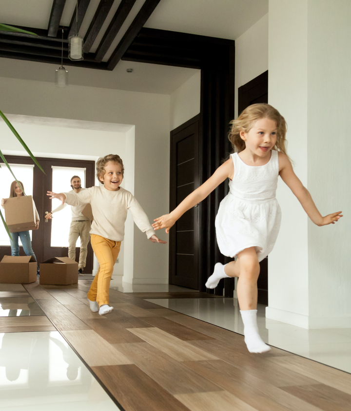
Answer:
<svg viewBox="0 0 351 411"><path fill-rule="evenodd" d="M116 67L117 63L128 50L128 47L132 44L133 40L137 37L137 34L149 19L159 2L160 0L145 0L145 3L142 5L136 18L129 26L122 40L119 41L115 51L112 53L108 61L109 70L113 70Z"/></svg>

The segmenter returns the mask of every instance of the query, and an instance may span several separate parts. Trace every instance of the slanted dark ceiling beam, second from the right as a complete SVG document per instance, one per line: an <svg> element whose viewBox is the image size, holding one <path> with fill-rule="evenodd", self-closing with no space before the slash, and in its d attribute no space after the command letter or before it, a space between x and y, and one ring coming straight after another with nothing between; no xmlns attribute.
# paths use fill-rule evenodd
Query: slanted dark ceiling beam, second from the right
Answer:
<svg viewBox="0 0 351 411"><path fill-rule="evenodd" d="M96 51L96 60L101 62L112 42L115 40L119 29L122 27L129 12L132 10L136 0L122 0L118 6L117 12L108 26L98 49Z"/></svg>

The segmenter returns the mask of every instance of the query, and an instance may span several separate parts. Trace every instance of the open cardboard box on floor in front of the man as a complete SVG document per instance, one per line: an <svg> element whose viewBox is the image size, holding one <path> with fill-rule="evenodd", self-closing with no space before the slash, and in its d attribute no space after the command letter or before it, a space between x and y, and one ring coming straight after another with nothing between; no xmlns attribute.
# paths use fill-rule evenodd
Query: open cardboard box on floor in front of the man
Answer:
<svg viewBox="0 0 351 411"><path fill-rule="evenodd" d="M68 286L78 283L78 263L68 257L53 257L40 263L39 284Z"/></svg>

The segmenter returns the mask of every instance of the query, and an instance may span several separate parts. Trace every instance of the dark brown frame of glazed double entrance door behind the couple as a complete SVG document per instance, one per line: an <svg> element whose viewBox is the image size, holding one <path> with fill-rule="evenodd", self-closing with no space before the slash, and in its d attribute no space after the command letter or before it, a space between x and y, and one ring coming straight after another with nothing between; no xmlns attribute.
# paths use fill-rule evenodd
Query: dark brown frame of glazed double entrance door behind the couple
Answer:
<svg viewBox="0 0 351 411"><path fill-rule="evenodd" d="M6 160L11 164L33 164L29 157L22 156L5 156ZM85 168L85 186L91 187L94 185L94 171L95 162L85 161L85 160L69 160L69 159L53 159L53 158L37 158L39 164L45 171L45 174L39 170L39 167L34 167L33 172L33 199L36 204L40 224L39 229L32 231L32 247L38 259L38 262L42 262L51 257L66 257L68 255L68 238L67 247L51 247L51 224L52 221L49 220L45 223L45 211L51 211L51 200L46 195L46 192L52 190L52 166L60 167L79 167ZM20 176L16 176L20 179ZM67 182L67 190L70 191L69 181ZM70 224L70 221L67 221ZM0 259L4 255L11 255L11 247L1 246L0 247ZM20 255L25 255L23 248L20 247ZM76 261L79 260L79 247L76 248ZM84 273L93 272L93 250L89 243L86 267Z"/></svg>

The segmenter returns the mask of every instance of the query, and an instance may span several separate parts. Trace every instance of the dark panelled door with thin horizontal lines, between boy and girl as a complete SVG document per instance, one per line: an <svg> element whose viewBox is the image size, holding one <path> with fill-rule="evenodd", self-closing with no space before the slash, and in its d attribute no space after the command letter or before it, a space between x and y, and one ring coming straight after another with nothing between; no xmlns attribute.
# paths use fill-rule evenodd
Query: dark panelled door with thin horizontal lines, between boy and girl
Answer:
<svg viewBox="0 0 351 411"><path fill-rule="evenodd" d="M198 118L171 132L170 209L199 185ZM170 231L170 284L198 289L198 206L188 210Z"/></svg>

